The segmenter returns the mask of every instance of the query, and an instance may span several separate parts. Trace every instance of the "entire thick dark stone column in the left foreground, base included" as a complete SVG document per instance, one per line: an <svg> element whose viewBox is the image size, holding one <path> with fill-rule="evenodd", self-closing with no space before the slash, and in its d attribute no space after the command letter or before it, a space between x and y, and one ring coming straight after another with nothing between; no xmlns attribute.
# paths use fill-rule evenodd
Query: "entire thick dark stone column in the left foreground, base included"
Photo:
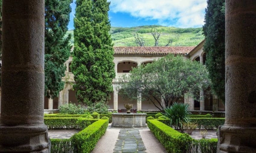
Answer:
<svg viewBox="0 0 256 153"><path fill-rule="evenodd" d="M44 0L2 3L0 152L50 152L43 119L44 13Z"/></svg>

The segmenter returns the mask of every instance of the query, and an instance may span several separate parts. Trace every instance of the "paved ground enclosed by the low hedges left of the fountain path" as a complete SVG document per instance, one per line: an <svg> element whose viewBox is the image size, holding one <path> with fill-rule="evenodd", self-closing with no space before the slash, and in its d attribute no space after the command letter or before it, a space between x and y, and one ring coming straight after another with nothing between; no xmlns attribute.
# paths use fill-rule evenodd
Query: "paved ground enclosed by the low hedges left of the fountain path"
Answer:
<svg viewBox="0 0 256 153"><path fill-rule="evenodd" d="M69 139L80 130L48 130L48 137L52 139Z"/></svg>

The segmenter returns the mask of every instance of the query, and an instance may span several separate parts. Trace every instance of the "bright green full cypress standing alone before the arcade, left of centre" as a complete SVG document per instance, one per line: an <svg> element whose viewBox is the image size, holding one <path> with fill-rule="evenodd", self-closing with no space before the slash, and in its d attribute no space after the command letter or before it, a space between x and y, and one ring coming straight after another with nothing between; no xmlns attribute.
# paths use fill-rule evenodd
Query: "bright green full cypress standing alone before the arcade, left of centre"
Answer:
<svg viewBox="0 0 256 153"><path fill-rule="evenodd" d="M107 101L115 77L107 0L76 0L71 70L79 102Z"/></svg>

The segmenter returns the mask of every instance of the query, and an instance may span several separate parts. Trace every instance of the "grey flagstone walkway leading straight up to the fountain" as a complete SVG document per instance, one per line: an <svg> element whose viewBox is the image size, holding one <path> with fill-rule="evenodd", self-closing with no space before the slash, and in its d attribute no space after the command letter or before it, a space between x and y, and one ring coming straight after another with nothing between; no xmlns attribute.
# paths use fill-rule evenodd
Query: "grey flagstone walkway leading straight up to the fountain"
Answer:
<svg viewBox="0 0 256 153"><path fill-rule="evenodd" d="M138 129L121 129L113 153L146 153Z"/></svg>

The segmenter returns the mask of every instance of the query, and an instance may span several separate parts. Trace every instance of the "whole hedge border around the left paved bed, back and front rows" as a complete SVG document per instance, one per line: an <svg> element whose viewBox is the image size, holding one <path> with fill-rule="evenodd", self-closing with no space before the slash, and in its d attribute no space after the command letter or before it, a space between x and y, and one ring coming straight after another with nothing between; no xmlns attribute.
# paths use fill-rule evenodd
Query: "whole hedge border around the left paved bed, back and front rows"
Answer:
<svg viewBox="0 0 256 153"><path fill-rule="evenodd" d="M51 129L81 129L70 139L51 139L52 153L89 153L108 128L107 119L44 118Z"/></svg>

